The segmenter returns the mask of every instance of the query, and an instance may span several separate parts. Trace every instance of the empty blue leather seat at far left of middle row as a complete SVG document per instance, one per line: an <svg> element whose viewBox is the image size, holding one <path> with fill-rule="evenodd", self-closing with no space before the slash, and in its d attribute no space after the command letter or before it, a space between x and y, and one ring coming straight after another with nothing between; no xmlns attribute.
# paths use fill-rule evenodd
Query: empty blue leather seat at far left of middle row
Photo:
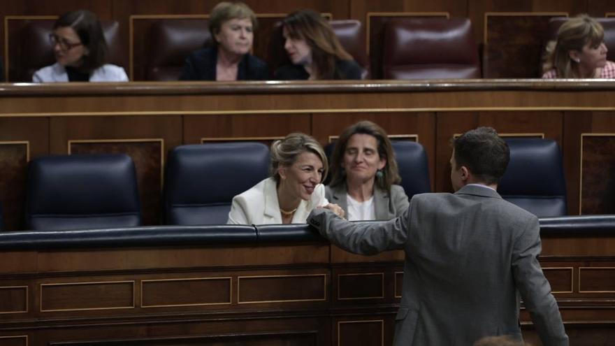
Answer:
<svg viewBox="0 0 615 346"><path fill-rule="evenodd" d="M135 167L128 155L50 156L31 162L27 229L58 231L140 224Z"/></svg>

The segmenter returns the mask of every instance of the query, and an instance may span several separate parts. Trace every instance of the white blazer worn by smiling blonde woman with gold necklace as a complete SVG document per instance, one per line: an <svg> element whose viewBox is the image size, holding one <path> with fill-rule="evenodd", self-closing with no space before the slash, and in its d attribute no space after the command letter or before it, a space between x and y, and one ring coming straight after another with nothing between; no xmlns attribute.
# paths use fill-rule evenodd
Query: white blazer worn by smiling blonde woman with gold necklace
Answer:
<svg viewBox="0 0 615 346"><path fill-rule="evenodd" d="M319 184L312 192L310 201L301 200L291 223L305 224L307 215L318 206L328 203L324 196L324 185ZM275 180L267 178L251 189L233 197L227 224L282 224L280 203L277 202Z"/></svg>

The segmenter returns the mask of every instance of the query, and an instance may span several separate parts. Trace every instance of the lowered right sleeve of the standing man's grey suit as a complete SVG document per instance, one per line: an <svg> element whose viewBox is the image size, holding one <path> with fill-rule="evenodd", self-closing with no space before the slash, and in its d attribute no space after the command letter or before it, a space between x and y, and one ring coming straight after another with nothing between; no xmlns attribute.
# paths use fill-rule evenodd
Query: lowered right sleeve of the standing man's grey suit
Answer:
<svg viewBox="0 0 615 346"><path fill-rule="evenodd" d="M521 236L515 240L512 273L542 344L567 346L568 337L557 302L538 262L540 251L540 225L537 217L533 217Z"/></svg>

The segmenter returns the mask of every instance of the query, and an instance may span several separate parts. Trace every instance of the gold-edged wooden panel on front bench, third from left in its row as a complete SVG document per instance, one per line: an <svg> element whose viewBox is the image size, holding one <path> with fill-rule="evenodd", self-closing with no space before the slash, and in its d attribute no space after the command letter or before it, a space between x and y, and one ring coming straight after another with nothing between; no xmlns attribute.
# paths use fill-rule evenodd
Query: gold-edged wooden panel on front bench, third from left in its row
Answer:
<svg viewBox="0 0 615 346"><path fill-rule="evenodd" d="M141 281L141 306L218 305L231 303L231 277Z"/></svg>

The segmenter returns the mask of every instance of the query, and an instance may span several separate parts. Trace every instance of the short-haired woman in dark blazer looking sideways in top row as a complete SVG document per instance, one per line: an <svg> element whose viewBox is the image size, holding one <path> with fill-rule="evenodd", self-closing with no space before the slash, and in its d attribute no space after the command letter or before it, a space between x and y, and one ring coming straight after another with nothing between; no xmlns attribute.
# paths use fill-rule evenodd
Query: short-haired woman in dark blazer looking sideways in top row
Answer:
<svg viewBox="0 0 615 346"><path fill-rule="evenodd" d="M218 3L209 20L214 46L192 52L180 80L266 80L267 65L249 54L255 28L256 15L245 3Z"/></svg>

